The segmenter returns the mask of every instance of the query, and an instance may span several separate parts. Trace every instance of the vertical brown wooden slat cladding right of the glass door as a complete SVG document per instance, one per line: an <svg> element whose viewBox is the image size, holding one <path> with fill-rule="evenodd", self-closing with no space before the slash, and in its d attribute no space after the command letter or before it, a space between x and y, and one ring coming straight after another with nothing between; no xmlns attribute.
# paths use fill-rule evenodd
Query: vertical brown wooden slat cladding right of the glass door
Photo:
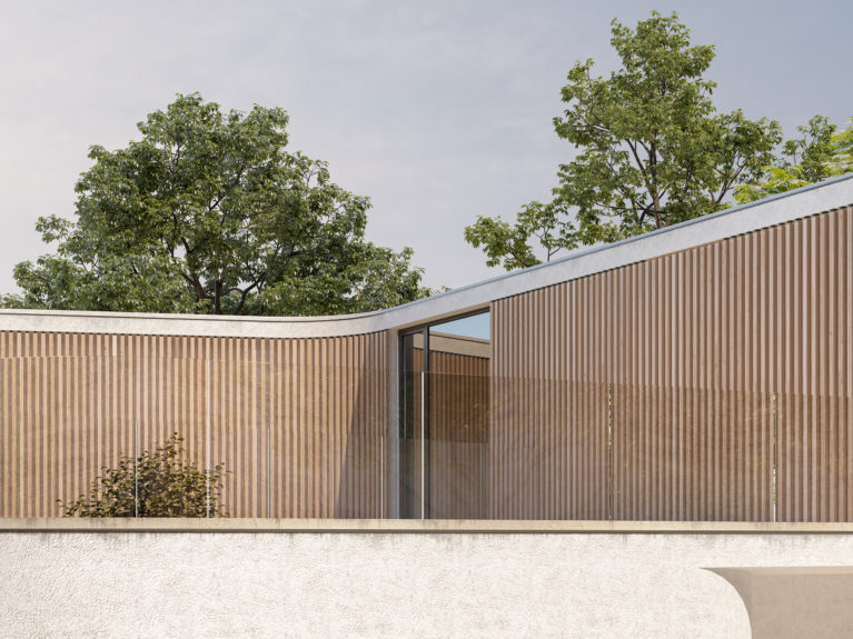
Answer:
<svg viewBox="0 0 853 639"><path fill-rule="evenodd" d="M853 520L850 208L502 299L492 322L494 517Z"/></svg>

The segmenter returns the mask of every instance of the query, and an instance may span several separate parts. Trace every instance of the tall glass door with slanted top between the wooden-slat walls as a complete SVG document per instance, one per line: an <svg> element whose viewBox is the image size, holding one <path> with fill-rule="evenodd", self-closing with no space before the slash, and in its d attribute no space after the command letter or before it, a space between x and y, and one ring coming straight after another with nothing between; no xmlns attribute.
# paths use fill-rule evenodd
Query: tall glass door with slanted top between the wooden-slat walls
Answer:
<svg viewBox="0 0 853 639"><path fill-rule="evenodd" d="M400 336L399 517L487 519L489 314Z"/></svg>

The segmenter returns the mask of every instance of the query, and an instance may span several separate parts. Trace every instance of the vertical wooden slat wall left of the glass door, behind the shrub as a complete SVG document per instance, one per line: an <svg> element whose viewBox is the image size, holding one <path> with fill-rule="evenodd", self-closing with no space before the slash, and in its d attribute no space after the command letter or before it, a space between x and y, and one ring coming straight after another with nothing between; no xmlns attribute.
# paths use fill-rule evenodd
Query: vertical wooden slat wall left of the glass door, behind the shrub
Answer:
<svg viewBox="0 0 853 639"><path fill-rule="evenodd" d="M59 515L133 453L137 421L140 451L177 431L190 459L224 462L231 516L380 517L386 348L0 332L0 517Z"/></svg>

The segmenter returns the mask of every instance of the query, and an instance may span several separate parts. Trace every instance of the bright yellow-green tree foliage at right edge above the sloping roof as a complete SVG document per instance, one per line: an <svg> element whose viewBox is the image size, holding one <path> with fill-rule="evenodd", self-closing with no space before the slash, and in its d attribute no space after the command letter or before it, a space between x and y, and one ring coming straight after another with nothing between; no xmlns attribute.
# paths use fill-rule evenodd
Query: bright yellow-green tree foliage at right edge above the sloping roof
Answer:
<svg viewBox="0 0 853 639"><path fill-rule="evenodd" d="M820 182L853 171L853 118L843 131L823 116L797 127L801 137L787 140L777 162L764 168L753 183L741 184L734 197L752 202L773 193Z"/></svg>

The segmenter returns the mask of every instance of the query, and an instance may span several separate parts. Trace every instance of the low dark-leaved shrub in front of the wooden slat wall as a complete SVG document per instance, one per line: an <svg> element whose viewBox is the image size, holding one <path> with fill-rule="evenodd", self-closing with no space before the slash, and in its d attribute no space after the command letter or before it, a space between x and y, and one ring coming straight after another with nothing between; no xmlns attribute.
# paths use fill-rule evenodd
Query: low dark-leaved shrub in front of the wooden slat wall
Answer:
<svg viewBox="0 0 853 639"><path fill-rule="evenodd" d="M176 432L153 452L122 457L70 503L57 500L66 517L227 517L222 505L226 470L187 462Z"/></svg>

